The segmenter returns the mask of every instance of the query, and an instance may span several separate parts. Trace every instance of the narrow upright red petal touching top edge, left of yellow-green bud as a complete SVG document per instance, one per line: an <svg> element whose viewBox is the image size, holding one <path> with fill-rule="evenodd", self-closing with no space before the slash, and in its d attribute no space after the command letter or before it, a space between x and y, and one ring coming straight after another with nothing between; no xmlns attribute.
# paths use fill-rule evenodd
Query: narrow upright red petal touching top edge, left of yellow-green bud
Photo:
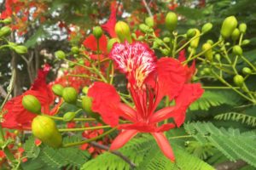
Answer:
<svg viewBox="0 0 256 170"><path fill-rule="evenodd" d="M116 1L113 1L113 3L111 3L110 11L110 17L108 21L102 25L102 29L104 31L107 31L111 37L116 37L116 33L114 31L114 26L116 23Z"/></svg>

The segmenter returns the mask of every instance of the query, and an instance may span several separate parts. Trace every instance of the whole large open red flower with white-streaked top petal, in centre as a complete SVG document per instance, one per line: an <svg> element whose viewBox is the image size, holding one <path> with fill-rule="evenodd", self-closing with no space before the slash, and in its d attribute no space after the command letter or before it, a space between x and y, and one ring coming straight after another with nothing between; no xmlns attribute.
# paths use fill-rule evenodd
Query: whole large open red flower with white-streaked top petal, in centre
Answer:
<svg viewBox="0 0 256 170"><path fill-rule="evenodd" d="M119 149L137 133L151 133L160 150L174 161L172 147L163 132L183 124L187 108L203 94L201 84L189 83L187 65L177 59L157 59L154 51L142 42L115 43L109 57L125 74L134 103L134 107L121 103L119 94L108 83L95 82L89 89L92 110L112 127L123 129L113 140L110 150ZM175 105L156 111L165 96L174 100ZM119 117L131 123L119 124ZM169 118L173 123L158 126L158 122Z"/></svg>

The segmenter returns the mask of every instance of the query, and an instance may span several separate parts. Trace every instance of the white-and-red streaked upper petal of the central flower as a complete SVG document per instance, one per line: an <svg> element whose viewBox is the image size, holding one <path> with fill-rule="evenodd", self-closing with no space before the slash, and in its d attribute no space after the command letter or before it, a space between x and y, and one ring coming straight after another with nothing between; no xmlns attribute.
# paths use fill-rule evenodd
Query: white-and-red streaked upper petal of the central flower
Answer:
<svg viewBox="0 0 256 170"><path fill-rule="evenodd" d="M115 43L109 57L115 61L119 70L125 73L131 85L137 87L141 87L156 68L154 51L142 42Z"/></svg>

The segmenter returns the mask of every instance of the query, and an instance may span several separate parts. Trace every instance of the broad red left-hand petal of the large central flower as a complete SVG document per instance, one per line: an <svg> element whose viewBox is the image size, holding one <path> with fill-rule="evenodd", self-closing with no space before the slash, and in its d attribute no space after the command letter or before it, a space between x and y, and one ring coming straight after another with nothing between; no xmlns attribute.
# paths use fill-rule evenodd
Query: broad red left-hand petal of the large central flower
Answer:
<svg viewBox="0 0 256 170"><path fill-rule="evenodd" d="M120 97L112 85L95 82L88 91L92 100L92 111L98 112L104 122L112 127L119 123Z"/></svg>

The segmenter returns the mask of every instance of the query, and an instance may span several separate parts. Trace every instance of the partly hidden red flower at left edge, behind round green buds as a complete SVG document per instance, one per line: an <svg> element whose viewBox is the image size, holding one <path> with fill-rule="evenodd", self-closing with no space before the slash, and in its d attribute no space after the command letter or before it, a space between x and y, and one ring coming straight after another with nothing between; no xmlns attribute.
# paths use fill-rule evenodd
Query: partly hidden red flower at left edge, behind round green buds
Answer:
<svg viewBox="0 0 256 170"><path fill-rule="evenodd" d="M3 107L3 111L7 111L3 115L4 121L2 126L6 128L27 129L31 127L32 119L36 116L34 113L26 111L22 105L22 98L24 95L32 94L37 97L42 105L41 111L44 114L54 115L56 107L49 110L55 99L49 86L46 84L45 79L49 72L49 65L45 65L43 70L38 71L38 78L32 84L32 87L24 94L10 99ZM57 105L58 106L58 105Z"/></svg>

